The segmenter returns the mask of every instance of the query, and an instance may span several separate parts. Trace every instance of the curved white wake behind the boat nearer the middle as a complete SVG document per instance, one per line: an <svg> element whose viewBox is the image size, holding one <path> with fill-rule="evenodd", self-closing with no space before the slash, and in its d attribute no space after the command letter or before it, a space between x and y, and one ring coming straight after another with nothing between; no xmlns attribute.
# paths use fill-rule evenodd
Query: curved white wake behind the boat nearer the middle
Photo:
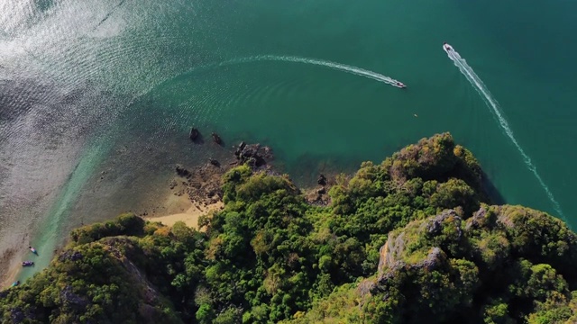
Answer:
<svg viewBox="0 0 577 324"><path fill-rule="evenodd" d="M258 62L258 61L283 61L283 62L293 62L293 63L303 63L303 64L312 64L321 67L329 67L339 71L343 71L346 73L353 74L355 76L364 76L370 79L385 83L387 85L393 85L396 87L398 86L399 81L395 80L389 76L383 76L380 73L373 72L361 67L353 67L341 63L335 63L327 60L322 59L315 59L315 58L298 58L298 57L289 57L289 56L274 56L274 55L263 55L251 58L236 58L230 61L225 61L219 66L224 65L232 65L232 64L239 64L239 63L248 63L248 62Z"/></svg>

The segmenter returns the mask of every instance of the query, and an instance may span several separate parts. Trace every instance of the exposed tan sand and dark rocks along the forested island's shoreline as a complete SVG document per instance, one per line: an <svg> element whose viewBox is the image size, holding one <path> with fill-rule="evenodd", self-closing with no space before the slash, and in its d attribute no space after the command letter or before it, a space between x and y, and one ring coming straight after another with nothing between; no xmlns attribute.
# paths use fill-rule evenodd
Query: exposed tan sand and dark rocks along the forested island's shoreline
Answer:
<svg viewBox="0 0 577 324"><path fill-rule="evenodd" d="M193 142L199 144L195 140ZM215 152L219 160L210 157L208 161L205 160L202 164L188 168L179 164L175 165L173 174L166 182L151 184L153 186L166 185L161 189L163 193L154 199L139 202L139 207L134 211L135 214L144 220L158 221L166 226L183 221L188 227L199 230L199 217L224 208L221 184L222 176L228 170L243 164L248 164L255 172L279 174L282 170L282 166L279 168L270 164L274 157L269 147L241 142L233 146L231 150L218 143L213 144L217 144L221 149L220 154ZM334 184L334 179L333 174L319 175L317 184L301 187L306 201L315 205L330 203L328 189ZM151 187L149 189L154 191ZM3 289L14 283L21 274L20 263L27 251L24 246L28 246L25 239L22 244L14 245L0 257L2 261L0 287Z"/></svg>

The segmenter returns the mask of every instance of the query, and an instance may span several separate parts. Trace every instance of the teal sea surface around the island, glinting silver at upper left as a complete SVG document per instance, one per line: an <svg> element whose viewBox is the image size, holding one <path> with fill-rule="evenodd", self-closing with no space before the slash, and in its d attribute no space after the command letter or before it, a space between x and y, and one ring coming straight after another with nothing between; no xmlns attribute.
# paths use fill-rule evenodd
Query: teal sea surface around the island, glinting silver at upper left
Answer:
<svg viewBox="0 0 577 324"><path fill-rule="evenodd" d="M25 279L240 140L305 185L442 131L575 229L575 31L561 0L0 0L0 254L37 247Z"/></svg>

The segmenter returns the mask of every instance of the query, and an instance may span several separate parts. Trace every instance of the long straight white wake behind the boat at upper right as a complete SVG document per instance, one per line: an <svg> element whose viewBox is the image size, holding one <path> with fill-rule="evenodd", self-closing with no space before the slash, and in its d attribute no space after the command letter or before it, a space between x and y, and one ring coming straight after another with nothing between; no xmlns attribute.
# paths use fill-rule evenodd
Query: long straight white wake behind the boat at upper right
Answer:
<svg viewBox="0 0 577 324"><path fill-rule="evenodd" d="M471 85L475 87L477 92L481 94L481 98L490 108L490 111L493 112L495 117L497 117L497 119L499 120L499 125L503 130L505 130L505 134L507 134L508 138L511 139L511 141L513 142L519 153L521 153L521 156L525 160L527 168L531 170L531 172L533 172L533 175L535 175L537 181L539 182L539 184L541 184L541 186L545 190L545 193L547 193L549 200L551 201L551 203L553 203L554 210L557 211L559 213L559 216L564 220L565 216L563 215L563 211L561 210L561 205L559 204L559 202L555 200L553 193L551 193L551 190L549 190L549 187L545 184L545 182L541 178L541 175L539 175L539 173L537 172L537 168L531 161L531 158L527 156L525 150L521 148L521 146L517 142L517 139L515 139L513 130L511 130L511 128L508 126L507 120L505 119L505 117L503 117L503 114L500 111L499 103L497 103L497 100L493 98L493 96L489 92L489 89L487 89L487 86L485 86L485 84L483 84L483 82L481 81L481 78L477 76L477 74L473 71L472 67L470 67L467 64L467 61L465 61L464 58L461 58L461 55L459 55L458 52L456 52L453 48L451 48L451 50L447 50L443 47L443 49L447 53L448 57L451 58L451 60L453 60L455 67L459 68L461 73L463 73L463 76L465 76L467 80L471 83Z"/></svg>

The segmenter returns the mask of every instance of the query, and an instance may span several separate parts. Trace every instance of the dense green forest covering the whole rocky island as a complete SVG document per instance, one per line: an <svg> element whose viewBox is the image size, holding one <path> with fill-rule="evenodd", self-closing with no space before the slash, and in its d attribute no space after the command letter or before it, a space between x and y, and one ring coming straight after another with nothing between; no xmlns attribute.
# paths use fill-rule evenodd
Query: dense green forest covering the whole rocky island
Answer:
<svg viewBox="0 0 577 324"><path fill-rule="evenodd" d="M339 176L326 207L248 166L223 192L203 232L132 214L74 230L49 268L0 293L3 322L577 321L575 234L490 205L448 133Z"/></svg>

